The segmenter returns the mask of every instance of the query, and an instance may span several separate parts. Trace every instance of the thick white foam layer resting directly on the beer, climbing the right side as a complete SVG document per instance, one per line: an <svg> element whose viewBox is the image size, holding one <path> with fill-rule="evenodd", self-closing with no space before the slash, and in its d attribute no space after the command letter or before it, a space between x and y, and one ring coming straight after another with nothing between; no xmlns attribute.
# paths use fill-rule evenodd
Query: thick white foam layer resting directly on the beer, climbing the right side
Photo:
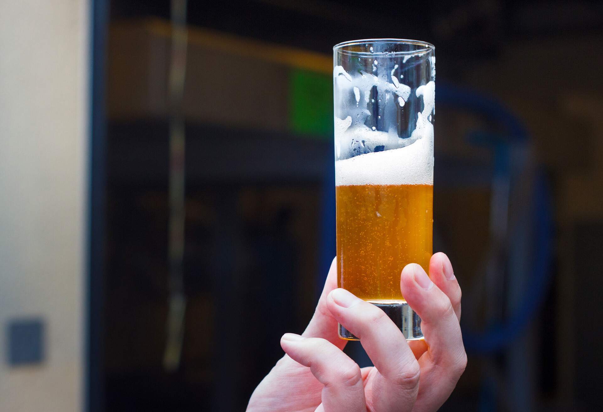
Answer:
<svg viewBox="0 0 603 412"><path fill-rule="evenodd" d="M429 121L429 116L434 110L435 83L430 81L418 87L415 93L417 97L423 96L423 110L417 113L417 127L411 135L416 141L405 147L336 160L336 186L434 184L434 125ZM346 121L339 127L349 126L351 119ZM358 133L366 133L367 139L370 139L371 132L368 130L353 132L356 138Z"/></svg>

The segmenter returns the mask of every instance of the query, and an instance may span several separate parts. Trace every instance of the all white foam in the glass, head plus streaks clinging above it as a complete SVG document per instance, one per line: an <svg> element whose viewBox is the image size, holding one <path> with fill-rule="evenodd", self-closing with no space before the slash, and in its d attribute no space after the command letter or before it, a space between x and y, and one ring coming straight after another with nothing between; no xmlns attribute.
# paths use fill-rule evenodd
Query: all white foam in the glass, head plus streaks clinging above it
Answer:
<svg viewBox="0 0 603 412"><path fill-rule="evenodd" d="M397 78L388 83L387 80L368 77L363 73L359 76L361 78L352 77L341 66L335 68L334 74L339 93L352 89L353 103L358 106L358 110L352 110L345 119L335 116L336 185L432 185L434 81L415 90L417 99L422 100L422 110L416 114L415 129L410 137L401 139L393 125L384 132L365 124L370 112L365 109L366 104L362 104L363 101L368 103L368 99L362 99L361 95L364 93L368 96L376 86L377 90L384 90L386 96L391 95L392 104L403 107L410 96L410 87L400 83ZM388 104L388 98L385 100Z"/></svg>

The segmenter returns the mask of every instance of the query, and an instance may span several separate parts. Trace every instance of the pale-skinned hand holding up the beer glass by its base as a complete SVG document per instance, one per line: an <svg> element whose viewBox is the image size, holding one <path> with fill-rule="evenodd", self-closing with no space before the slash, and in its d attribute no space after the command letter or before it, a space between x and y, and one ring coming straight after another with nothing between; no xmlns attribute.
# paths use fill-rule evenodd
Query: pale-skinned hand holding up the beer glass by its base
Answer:
<svg viewBox="0 0 603 412"><path fill-rule="evenodd" d="M400 288L421 317L425 341L407 342L381 309L337 288L331 264L303 334L285 334L286 355L260 382L247 411L435 411L465 370L461 288L444 253L402 270ZM374 367L360 368L341 350L337 323L360 338Z"/></svg>

